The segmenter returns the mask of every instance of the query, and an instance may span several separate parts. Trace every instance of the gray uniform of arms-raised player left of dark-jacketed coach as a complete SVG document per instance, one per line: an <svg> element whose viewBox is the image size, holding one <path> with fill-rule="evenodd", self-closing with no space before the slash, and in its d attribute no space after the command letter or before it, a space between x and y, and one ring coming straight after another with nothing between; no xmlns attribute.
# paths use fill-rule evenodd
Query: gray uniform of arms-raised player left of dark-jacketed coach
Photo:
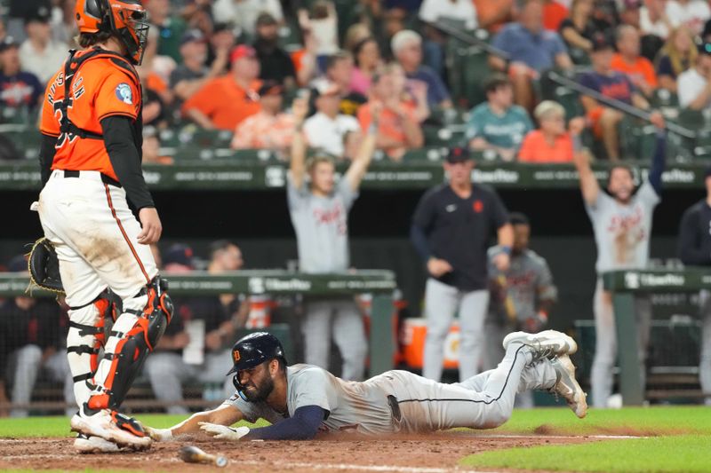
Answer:
<svg viewBox="0 0 711 473"><path fill-rule="evenodd" d="M328 197L317 197L303 184L287 179L287 198L299 248L302 272L345 272L348 270L348 210L358 193L341 179ZM362 380L365 375L365 340L363 319L352 297L341 299L309 297L301 323L304 358L310 365L328 367L331 336L339 347L343 367L341 375Z"/></svg>

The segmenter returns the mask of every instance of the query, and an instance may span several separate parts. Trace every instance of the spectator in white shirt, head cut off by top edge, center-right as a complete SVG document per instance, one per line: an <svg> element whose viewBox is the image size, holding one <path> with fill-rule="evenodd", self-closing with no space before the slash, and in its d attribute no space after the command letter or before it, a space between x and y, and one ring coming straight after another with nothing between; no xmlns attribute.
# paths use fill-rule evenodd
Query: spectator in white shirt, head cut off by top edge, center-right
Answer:
<svg viewBox="0 0 711 473"><path fill-rule="evenodd" d="M455 21L467 30L476 29L476 9L472 0L424 0L419 7L419 20L426 23L422 44L424 63L440 77L444 74L444 43L447 37L434 24L438 20Z"/></svg>

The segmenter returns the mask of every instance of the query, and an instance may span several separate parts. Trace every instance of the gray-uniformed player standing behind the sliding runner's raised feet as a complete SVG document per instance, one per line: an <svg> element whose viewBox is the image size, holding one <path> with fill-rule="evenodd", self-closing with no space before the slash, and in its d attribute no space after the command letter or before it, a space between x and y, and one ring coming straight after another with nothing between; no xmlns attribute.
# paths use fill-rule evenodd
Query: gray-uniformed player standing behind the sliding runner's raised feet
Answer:
<svg viewBox="0 0 711 473"><path fill-rule="evenodd" d="M506 272L499 272L494 258L500 252L498 246L489 248L489 278L491 297L485 332L487 340L487 364L495 367L504 356L501 340L509 332L523 330L540 332L546 326L548 311L555 304L558 291L546 260L528 248L531 224L520 213L509 214L514 228L514 245L511 248L511 263ZM531 391L516 397L516 407L533 406Z"/></svg>

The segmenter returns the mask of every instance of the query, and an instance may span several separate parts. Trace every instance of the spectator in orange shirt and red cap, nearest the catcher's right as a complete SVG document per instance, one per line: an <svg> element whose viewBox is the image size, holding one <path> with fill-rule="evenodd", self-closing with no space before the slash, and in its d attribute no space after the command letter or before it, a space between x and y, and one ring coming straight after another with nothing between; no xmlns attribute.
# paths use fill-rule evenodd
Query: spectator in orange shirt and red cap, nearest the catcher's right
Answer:
<svg viewBox="0 0 711 473"><path fill-rule="evenodd" d="M260 111L260 62L252 46L240 44L230 52L231 74L207 81L186 100L183 113L205 130L235 130Z"/></svg>

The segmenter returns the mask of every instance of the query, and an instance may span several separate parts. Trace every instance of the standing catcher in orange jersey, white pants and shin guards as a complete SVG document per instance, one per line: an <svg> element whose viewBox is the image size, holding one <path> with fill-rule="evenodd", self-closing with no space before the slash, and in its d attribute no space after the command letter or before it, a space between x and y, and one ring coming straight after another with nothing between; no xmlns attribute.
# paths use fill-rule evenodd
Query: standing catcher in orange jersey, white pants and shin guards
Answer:
<svg viewBox="0 0 711 473"><path fill-rule="evenodd" d="M83 49L69 51L45 92L44 188L36 209L56 250L70 307L76 449L143 449L150 438L118 409L172 316L148 246L160 238L161 222L140 168L134 66L143 56L148 22L138 0L78 0L76 22ZM121 299L120 311L111 310L108 289ZM115 318L108 335L105 314Z"/></svg>

